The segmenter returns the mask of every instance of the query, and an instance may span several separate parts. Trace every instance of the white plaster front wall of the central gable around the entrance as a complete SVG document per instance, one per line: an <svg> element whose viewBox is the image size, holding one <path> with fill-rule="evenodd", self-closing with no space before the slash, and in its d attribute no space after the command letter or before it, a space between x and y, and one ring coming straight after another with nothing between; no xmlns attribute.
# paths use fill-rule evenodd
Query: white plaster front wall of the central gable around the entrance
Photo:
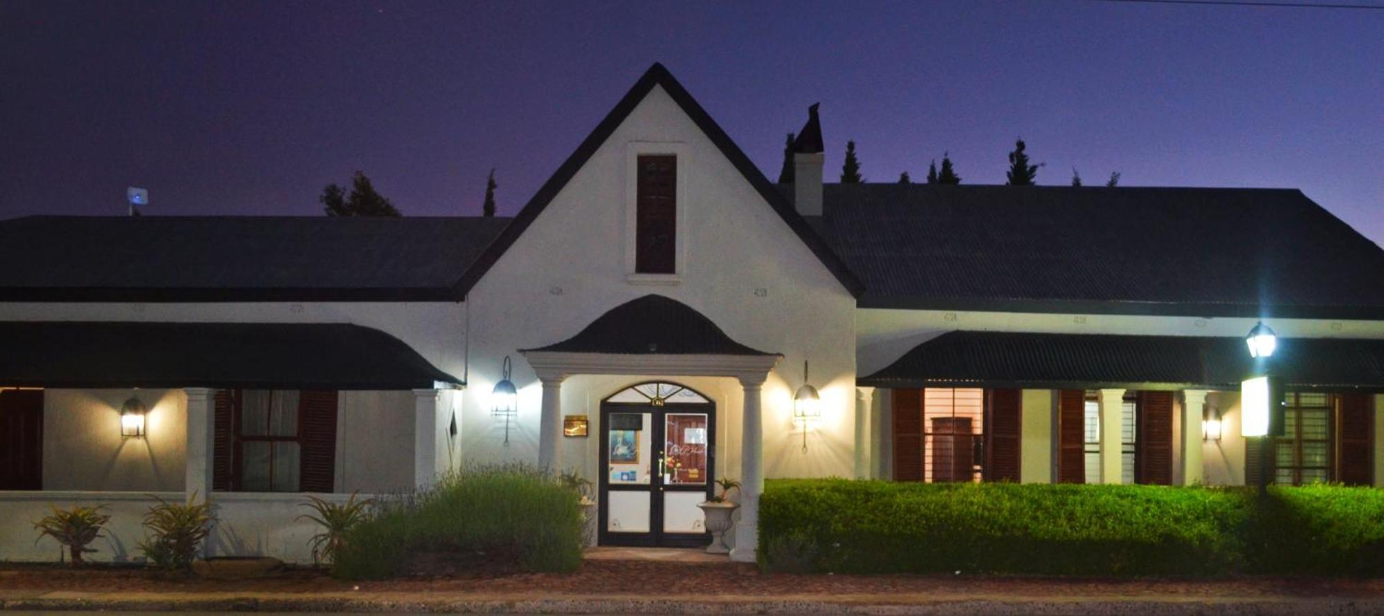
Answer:
<svg viewBox="0 0 1384 616"><path fill-rule="evenodd" d="M631 142L663 142L680 152L686 182L678 233L684 261L680 282L645 285L627 279L626 173ZM656 146L655 146L656 149ZM760 290L760 291L757 291ZM752 189L673 102L656 88L592 155L547 210L513 243L468 297L472 366L464 395L461 450L468 463L537 460L541 389L520 348L566 340L610 308L657 293L702 312L731 338L783 362L764 385L765 475L850 477L854 442L854 298L826 271L774 210ZM502 420L490 417L487 394L501 359L513 359L519 387L519 428L502 447ZM792 425L792 391L801 384L803 359L823 398L823 420L808 435ZM639 376L577 377L562 387L563 414L598 414L597 402ZM718 398L720 461L739 472L738 384L678 380ZM513 428L512 428L513 430ZM592 427L595 434L595 427ZM562 439L562 460L573 449L595 464L591 439Z"/></svg>

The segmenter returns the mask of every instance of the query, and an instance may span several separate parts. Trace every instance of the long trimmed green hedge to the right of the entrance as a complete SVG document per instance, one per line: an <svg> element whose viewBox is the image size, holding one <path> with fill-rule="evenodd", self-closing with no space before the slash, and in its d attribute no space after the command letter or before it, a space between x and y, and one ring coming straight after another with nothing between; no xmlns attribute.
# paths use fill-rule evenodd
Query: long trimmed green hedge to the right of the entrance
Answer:
<svg viewBox="0 0 1384 616"><path fill-rule="evenodd" d="M1384 490L771 481L767 570L1384 573Z"/></svg>

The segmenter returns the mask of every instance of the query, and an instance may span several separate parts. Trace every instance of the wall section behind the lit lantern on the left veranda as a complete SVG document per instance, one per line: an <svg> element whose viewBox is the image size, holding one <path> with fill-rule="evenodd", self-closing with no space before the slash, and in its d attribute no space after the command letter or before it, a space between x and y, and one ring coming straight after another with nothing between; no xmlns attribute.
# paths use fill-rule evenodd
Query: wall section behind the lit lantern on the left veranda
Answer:
<svg viewBox="0 0 1384 616"><path fill-rule="evenodd" d="M145 436L120 436L120 406L148 407ZM43 489L183 490L187 461L183 389L44 389Z"/></svg>

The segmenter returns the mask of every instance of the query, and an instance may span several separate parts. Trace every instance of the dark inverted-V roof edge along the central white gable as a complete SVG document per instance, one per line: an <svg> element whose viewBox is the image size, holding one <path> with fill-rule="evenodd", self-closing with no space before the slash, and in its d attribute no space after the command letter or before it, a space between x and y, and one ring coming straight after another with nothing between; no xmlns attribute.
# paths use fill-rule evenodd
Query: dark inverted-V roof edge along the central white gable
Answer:
<svg viewBox="0 0 1384 616"><path fill-rule="evenodd" d="M655 64L653 66L649 66L649 70L645 70L644 76L639 77L624 98L616 104L614 109L610 109L610 113L608 113L606 117L597 124L595 130L581 141L577 151L573 152L561 167L558 167L558 171L554 173L541 188L538 188L538 192L534 193L533 199L529 199L529 203L519 210L513 224L500 233L500 238L497 238L495 242L486 249L480 258L476 260L476 264L465 273L465 276L462 276L461 282L457 285L457 297L465 297L466 293L471 291L471 287L473 287L480 278L486 275L490 267L500 260L500 256L509 250L509 246L513 244L520 235L523 235L525 229L527 229L536 218L538 218L538 214L541 214L543 210L548 207L548 203L558 196L562 186L566 186L577 171L585 166L587 160L595 155L597 149L599 149L601 145L605 144L612 134L614 134L616 128L624 123L624 119L628 117L637 106L639 106L644 97L653 91L655 86L662 87L666 93L668 93L673 101L677 102L678 108L692 119L692 122L702 130L702 133L706 134L709 139L711 139L711 144L721 151L721 155L724 155L727 160L735 166L740 175L750 182L754 192L768 202L770 207L772 207L774 211L783 218L783 222L786 222L789 228L793 229L793 233L796 233L799 239L807 244L822 265L825 265L826 269L836 276L846 290L858 297L865 287L846 267L846 262L832 251L826 242L822 240L822 238L818 236L811 227L808 227L787 199L785 199L774 184L764 177L760 169L750 162L749 156L746 156L745 152L740 152L740 148L731 141L731 137L728 137L725 131L717 126L716 120L713 120L711 116L702 109L702 105L692 98L692 94L688 94L686 88L684 88L677 79L673 79L673 73L663 68L662 64Z"/></svg>

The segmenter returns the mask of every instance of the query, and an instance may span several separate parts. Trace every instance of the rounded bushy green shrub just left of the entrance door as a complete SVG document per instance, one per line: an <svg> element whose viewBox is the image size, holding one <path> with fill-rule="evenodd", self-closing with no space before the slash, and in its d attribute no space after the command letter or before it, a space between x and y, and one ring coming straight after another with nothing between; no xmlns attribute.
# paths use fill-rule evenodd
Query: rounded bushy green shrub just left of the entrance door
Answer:
<svg viewBox="0 0 1384 616"><path fill-rule="evenodd" d="M483 566L570 572L581 565L581 508L576 490L523 465L476 467L428 490L376 503L346 535L332 573L381 579L411 558L450 554Z"/></svg>

